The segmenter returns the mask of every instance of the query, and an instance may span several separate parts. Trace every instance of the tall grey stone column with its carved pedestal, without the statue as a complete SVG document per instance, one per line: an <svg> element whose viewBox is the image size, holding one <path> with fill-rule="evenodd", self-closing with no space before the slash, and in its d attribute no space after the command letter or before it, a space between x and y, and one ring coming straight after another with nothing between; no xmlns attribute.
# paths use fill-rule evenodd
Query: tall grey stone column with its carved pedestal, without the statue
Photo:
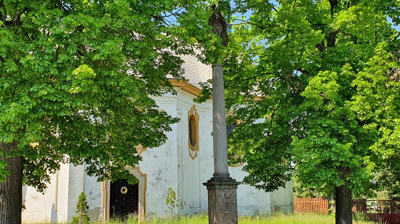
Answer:
<svg viewBox="0 0 400 224"><path fill-rule="evenodd" d="M212 118L214 174L206 183L208 223L237 224L237 185L228 172L224 75L221 64L212 65Z"/></svg>

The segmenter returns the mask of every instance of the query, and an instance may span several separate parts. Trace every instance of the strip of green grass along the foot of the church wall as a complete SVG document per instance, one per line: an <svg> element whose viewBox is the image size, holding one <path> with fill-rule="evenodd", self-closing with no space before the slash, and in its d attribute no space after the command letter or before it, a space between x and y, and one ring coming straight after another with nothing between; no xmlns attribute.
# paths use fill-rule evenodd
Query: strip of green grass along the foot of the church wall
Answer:
<svg viewBox="0 0 400 224"><path fill-rule="evenodd" d="M109 224L121 224L122 222L110 221ZM129 219L127 224L136 224L135 218ZM142 224L208 224L206 214L195 216L176 216L168 218L154 217L152 220L141 222ZM274 214L266 216L241 216L239 224L334 224L335 217L317 214ZM353 221L353 224L370 224L368 221Z"/></svg>

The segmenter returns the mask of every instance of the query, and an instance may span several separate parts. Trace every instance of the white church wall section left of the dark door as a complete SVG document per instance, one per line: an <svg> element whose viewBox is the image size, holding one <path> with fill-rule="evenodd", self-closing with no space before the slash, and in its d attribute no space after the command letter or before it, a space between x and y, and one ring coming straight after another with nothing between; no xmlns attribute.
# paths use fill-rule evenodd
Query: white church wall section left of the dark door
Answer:
<svg viewBox="0 0 400 224"><path fill-rule="evenodd" d="M76 215L79 194L85 192L89 205L88 215L91 220L103 217L102 183L96 177L87 176L84 166L62 164L60 169L51 174L51 182L46 193L42 194L33 187L23 187L23 220L34 222L66 222Z"/></svg>

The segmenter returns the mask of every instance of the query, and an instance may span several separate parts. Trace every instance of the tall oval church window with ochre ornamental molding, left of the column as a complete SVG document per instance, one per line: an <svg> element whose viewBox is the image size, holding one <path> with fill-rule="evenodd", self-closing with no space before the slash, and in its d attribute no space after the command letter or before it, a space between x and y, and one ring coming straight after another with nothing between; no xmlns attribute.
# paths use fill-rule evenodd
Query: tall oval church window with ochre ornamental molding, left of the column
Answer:
<svg viewBox="0 0 400 224"><path fill-rule="evenodd" d="M198 133L198 120L199 115L197 113L196 105L193 105L188 112L188 144L189 144L189 155L194 160L197 157L197 151L199 149L199 133Z"/></svg>

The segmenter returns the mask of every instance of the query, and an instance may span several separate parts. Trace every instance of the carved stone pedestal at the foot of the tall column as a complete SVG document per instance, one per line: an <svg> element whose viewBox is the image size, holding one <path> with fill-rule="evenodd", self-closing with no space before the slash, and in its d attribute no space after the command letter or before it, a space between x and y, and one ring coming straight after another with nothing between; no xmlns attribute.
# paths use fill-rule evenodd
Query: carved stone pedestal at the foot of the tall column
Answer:
<svg viewBox="0 0 400 224"><path fill-rule="evenodd" d="M214 173L206 183L208 190L208 223L237 224L237 182L228 174Z"/></svg>

